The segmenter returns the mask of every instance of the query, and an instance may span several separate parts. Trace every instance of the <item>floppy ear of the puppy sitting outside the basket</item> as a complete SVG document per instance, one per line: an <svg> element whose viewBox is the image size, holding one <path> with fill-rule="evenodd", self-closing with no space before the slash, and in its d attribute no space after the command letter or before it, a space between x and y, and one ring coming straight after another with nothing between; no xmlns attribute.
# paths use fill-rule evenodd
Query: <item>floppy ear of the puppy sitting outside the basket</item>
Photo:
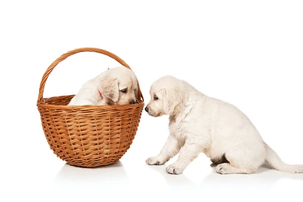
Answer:
<svg viewBox="0 0 303 202"><path fill-rule="evenodd" d="M164 112L168 115L172 114L177 104L182 101L182 93L179 89L164 89Z"/></svg>

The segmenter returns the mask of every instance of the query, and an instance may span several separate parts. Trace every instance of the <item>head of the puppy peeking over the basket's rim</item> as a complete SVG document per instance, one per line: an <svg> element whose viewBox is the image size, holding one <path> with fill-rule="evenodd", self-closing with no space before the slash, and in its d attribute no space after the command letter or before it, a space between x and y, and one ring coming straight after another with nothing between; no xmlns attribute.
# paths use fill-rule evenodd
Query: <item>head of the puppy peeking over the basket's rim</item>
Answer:
<svg viewBox="0 0 303 202"><path fill-rule="evenodd" d="M108 69L100 75L99 90L108 105L135 104L138 95L136 75L124 66Z"/></svg>

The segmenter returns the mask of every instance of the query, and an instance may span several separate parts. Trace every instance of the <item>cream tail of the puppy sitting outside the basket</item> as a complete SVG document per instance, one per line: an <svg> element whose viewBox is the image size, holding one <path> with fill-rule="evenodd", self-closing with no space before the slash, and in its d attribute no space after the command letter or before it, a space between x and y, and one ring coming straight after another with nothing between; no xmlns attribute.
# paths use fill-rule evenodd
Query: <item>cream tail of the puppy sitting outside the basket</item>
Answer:
<svg viewBox="0 0 303 202"><path fill-rule="evenodd" d="M265 149L266 149L265 160L273 169L286 173L303 173L303 165L285 164L278 156L278 154L272 148L270 148L270 146L268 146L266 143L265 143Z"/></svg>

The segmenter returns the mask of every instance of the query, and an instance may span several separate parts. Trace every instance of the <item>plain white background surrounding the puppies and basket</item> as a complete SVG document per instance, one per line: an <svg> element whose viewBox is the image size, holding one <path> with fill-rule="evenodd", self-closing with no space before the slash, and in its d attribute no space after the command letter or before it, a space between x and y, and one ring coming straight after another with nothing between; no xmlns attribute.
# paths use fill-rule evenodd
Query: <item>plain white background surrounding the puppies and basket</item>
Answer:
<svg viewBox="0 0 303 202"><path fill-rule="evenodd" d="M286 163L303 164L302 11L302 1L1 1L0 200L299 200L303 174L219 175L204 154L178 176L145 165L168 136L168 117L145 111L117 164L68 166L49 149L36 99L61 54L101 48L131 66L145 104L160 76L185 79L236 105ZM49 76L44 97L75 94L117 65L96 53L71 56Z"/></svg>

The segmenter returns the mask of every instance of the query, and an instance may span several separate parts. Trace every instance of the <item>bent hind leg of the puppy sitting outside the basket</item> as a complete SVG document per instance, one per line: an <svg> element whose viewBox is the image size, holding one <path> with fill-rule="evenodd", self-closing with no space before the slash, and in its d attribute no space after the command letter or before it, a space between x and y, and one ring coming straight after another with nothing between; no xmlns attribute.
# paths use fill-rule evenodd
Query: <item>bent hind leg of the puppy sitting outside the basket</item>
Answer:
<svg viewBox="0 0 303 202"><path fill-rule="evenodd" d="M228 162L219 164L215 171L219 174L252 174L264 163L265 152L251 149L235 149L226 152Z"/></svg>

